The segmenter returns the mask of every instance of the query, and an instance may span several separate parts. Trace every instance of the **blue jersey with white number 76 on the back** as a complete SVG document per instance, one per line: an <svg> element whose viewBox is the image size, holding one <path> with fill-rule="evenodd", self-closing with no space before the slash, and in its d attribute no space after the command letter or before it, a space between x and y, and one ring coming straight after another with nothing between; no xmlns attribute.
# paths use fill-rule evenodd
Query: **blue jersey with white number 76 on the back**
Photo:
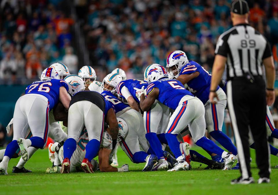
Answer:
<svg viewBox="0 0 278 195"><path fill-rule="evenodd" d="M50 79L43 81L34 81L28 85L25 94L40 94L45 96L49 101L49 109L51 110L59 102L59 89L65 87L69 90L67 82L60 79Z"/></svg>

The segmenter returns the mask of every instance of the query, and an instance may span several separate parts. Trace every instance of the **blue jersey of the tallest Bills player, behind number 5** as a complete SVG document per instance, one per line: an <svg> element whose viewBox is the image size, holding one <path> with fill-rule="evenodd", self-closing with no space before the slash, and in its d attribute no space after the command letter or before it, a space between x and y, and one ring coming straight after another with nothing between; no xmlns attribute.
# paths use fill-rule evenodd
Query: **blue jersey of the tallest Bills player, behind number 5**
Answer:
<svg viewBox="0 0 278 195"><path fill-rule="evenodd" d="M209 100L209 90L211 86L211 74L206 71L200 64L194 61L189 61L184 65L180 71L180 75L186 75L199 72L199 76L189 81L187 84L187 90L189 90L194 96L199 98L203 104ZM219 89L217 86L216 90Z"/></svg>

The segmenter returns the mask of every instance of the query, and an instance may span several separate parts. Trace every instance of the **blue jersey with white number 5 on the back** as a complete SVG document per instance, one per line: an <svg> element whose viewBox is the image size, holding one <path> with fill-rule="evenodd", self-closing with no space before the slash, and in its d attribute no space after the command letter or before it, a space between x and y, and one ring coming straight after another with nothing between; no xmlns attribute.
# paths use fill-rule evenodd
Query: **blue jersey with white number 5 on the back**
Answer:
<svg viewBox="0 0 278 195"><path fill-rule="evenodd" d="M159 89L158 101L174 110L178 107L180 100L184 96L193 96L192 93L185 90L180 81L168 78L151 82L147 87L147 95L150 94L154 88Z"/></svg>

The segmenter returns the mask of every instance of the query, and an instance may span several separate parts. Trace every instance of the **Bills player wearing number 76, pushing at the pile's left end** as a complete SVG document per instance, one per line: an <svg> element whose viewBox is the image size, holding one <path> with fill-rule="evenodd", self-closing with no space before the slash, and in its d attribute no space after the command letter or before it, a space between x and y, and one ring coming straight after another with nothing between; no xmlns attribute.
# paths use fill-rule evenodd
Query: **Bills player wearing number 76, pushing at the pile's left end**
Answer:
<svg viewBox="0 0 278 195"><path fill-rule="evenodd" d="M18 148L21 158L29 159L28 147L44 148L48 136L49 111L59 102L68 109L70 96L67 93L68 85L58 79L54 68L46 68L41 81L34 81L25 90L14 108L14 137L8 144L3 161L0 163L0 174L8 174L7 167L10 158ZM30 127L33 137L24 139Z"/></svg>

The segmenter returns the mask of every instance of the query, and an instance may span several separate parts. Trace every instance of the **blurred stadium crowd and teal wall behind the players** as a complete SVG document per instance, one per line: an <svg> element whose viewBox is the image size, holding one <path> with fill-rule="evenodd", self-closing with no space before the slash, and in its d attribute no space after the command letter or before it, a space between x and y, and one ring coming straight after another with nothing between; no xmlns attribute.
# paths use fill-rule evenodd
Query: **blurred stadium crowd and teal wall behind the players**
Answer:
<svg viewBox="0 0 278 195"><path fill-rule="evenodd" d="M248 0L247 0L248 1ZM278 67L278 1L249 0L250 25L271 44ZM2 0L0 3L0 147L25 87L62 62L71 74L85 65L97 80L114 68L142 79L146 66L165 66L174 50L211 71L218 36L231 27L231 0ZM278 81L275 82L278 95ZM278 121L278 98L271 109ZM255 105L254 105L255 106ZM231 133L228 113L224 131Z"/></svg>

